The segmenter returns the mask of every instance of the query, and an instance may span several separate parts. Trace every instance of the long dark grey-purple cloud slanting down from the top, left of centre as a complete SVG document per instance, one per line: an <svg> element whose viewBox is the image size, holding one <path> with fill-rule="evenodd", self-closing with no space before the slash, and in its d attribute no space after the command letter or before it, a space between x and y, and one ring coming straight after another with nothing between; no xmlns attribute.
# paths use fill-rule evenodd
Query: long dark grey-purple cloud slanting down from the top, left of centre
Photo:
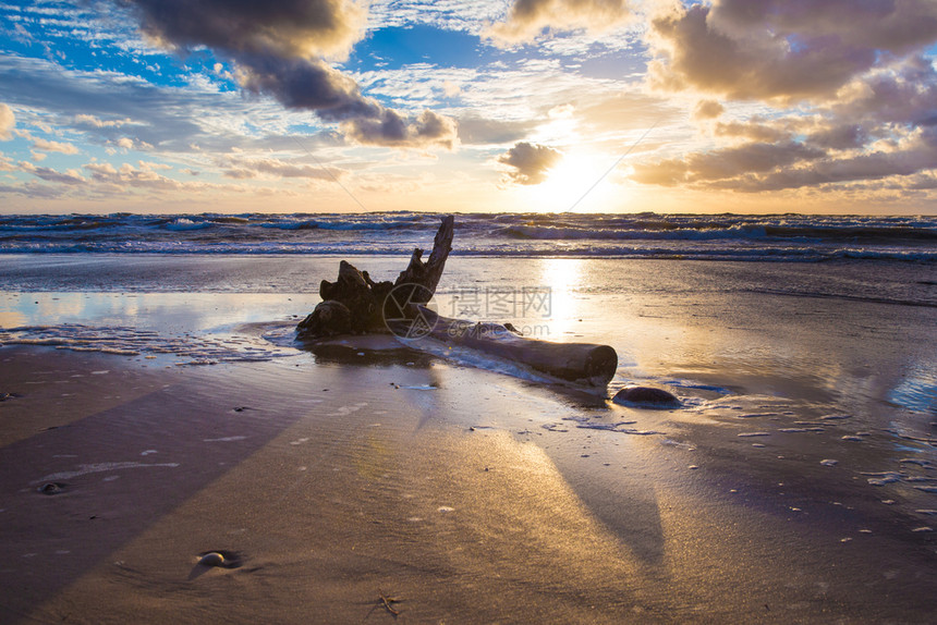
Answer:
<svg viewBox="0 0 937 625"><path fill-rule="evenodd" d="M325 58L343 58L363 36L366 12L348 0L115 0L137 10L141 28L170 48L208 46L230 58L248 94L339 122L354 140L393 147L445 147L455 124L424 111L415 119L362 95Z"/></svg>

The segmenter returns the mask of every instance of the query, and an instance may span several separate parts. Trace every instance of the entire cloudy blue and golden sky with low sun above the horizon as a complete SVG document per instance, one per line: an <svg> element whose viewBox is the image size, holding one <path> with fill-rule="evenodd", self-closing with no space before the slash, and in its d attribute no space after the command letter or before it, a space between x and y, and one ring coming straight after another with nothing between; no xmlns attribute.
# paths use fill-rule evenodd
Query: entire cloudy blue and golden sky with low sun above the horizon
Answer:
<svg viewBox="0 0 937 625"><path fill-rule="evenodd" d="M934 0L0 5L0 212L937 215Z"/></svg>

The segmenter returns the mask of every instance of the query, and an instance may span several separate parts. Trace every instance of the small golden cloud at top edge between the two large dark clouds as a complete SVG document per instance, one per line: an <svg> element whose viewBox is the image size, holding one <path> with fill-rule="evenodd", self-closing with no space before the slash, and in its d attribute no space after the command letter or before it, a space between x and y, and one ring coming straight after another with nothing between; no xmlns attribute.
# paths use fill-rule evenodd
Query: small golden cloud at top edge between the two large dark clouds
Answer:
<svg viewBox="0 0 937 625"><path fill-rule="evenodd" d="M552 30L608 30L632 16L626 0L515 0L504 22L485 35L498 45L531 41Z"/></svg>

